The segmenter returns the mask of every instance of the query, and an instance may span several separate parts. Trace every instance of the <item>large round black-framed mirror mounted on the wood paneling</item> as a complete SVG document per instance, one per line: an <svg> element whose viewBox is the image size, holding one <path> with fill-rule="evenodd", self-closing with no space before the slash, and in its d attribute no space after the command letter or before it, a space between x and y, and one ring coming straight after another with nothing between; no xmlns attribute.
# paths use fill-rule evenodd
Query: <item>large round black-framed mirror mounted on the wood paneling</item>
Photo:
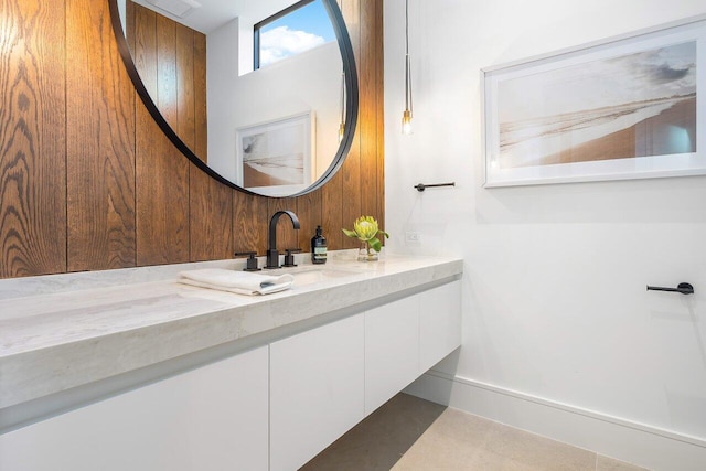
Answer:
<svg viewBox="0 0 706 471"><path fill-rule="evenodd" d="M108 1L140 98L211 176L293 196L342 165L357 75L335 0Z"/></svg>

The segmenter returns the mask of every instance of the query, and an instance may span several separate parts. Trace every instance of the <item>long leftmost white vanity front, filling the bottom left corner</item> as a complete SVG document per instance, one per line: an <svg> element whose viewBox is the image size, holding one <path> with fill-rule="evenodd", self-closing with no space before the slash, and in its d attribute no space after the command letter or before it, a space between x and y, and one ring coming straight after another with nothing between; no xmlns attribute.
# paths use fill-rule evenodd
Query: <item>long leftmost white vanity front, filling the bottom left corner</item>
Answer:
<svg viewBox="0 0 706 471"><path fill-rule="evenodd" d="M12 471L267 470L259 347L0 436Z"/></svg>

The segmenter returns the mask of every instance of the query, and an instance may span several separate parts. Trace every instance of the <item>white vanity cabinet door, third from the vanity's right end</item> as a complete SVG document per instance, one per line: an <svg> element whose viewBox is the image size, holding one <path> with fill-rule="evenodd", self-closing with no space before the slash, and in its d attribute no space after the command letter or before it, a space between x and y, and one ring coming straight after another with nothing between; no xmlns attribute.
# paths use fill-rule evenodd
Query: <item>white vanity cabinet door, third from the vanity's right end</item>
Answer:
<svg viewBox="0 0 706 471"><path fill-rule="evenodd" d="M363 314L270 344L270 469L296 470L363 419Z"/></svg>

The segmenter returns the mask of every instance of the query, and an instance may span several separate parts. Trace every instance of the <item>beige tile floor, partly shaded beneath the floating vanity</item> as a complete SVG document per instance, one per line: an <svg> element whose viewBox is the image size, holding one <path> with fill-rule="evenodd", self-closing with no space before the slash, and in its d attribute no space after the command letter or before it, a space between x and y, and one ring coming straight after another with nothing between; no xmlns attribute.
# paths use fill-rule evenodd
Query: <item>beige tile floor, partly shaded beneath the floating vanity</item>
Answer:
<svg viewBox="0 0 706 471"><path fill-rule="evenodd" d="M643 468L398 394L302 470L638 471Z"/></svg>

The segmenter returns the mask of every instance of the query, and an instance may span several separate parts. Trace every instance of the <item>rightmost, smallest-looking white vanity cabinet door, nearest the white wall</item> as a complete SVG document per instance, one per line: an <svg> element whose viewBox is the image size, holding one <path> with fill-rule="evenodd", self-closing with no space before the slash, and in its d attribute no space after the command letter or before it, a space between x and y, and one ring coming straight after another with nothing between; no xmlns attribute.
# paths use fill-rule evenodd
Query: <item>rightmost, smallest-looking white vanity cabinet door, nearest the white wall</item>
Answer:
<svg viewBox="0 0 706 471"><path fill-rule="evenodd" d="M417 295L419 298L419 374L461 345L461 281Z"/></svg>

